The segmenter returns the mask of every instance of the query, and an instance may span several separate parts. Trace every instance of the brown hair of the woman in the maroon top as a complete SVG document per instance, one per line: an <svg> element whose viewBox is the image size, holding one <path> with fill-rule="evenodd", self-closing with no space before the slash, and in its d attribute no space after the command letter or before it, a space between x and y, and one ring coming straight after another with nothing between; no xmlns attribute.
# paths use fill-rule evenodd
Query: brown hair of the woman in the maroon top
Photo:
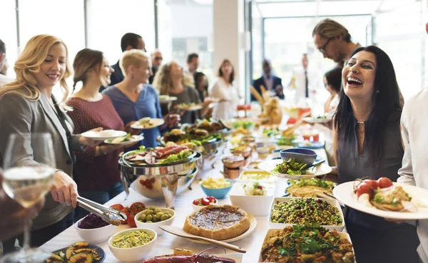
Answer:
<svg viewBox="0 0 428 263"><path fill-rule="evenodd" d="M76 88L76 84L81 81L83 85L86 83L86 78L88 77L88 72L92 69L95 69L98 72L103 86L106 86L107 83L101 77L101 69L103 68L104 55L103 52L98 50L93 50L90 48L83 48L81 51L78 51L76 57L73 61L73 92Z"/></svg>

